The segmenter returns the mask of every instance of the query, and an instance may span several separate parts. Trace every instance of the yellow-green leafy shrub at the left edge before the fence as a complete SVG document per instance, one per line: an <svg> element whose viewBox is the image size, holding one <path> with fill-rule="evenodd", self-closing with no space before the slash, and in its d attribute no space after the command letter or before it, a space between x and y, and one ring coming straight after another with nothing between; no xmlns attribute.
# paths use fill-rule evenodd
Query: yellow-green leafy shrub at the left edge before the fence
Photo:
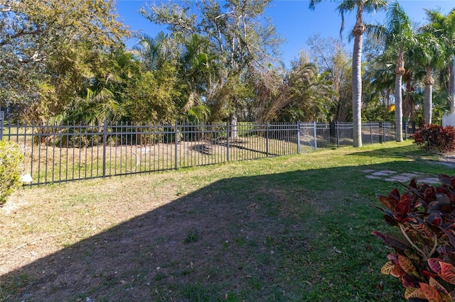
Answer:
<svg viewBox="0 0 455 302"><path fill-rule="evenodd" d="M21 184L23 153L15 142L0 140L0 206Z"/></svg>

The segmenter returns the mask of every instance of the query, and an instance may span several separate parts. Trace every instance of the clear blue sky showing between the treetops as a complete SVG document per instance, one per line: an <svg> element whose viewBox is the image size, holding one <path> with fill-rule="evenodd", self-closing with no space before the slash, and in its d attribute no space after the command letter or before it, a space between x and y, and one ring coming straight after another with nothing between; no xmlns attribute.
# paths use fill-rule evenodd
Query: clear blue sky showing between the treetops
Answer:
<svg viewBox="0 0 455 302"><path fill-rule="evenodd" d="M158 2L158 1L156 1ZM424 9L440 9L441 13L447 14L455 8L455 0L401 0L400 5L405 9L412 21L425 23ZM125 24L132 30L146 33L154 37L166 26L156 26L146 20L137 11L153 1L143 0L117 0L117 13ZM322 1L314 11L309 10L309 1L305 0L276 0L273 1L264 16L272 18L277 32L287 41L282 45L282 59L288 63L299 55L300 50L306 49L306 40L315 33L323 37L339 36L341 17L336 12L336 4L331 1ZM365 22L382 23L385 13L365 15ZM347 35L355 23L355 13L346 16L346 27L343 33L343 41L347 44ZM127 46L132 47L135 40L127 41ZM350 51L350 47L348 47ZM289 66L289 65L288 65Z"/></svg>

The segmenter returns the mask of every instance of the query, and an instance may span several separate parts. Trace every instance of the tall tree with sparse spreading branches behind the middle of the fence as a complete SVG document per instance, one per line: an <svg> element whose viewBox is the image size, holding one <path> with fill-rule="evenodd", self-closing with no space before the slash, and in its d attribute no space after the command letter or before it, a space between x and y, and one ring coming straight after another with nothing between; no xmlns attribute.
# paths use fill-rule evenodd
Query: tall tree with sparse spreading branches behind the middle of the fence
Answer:
<svg viewBox="0 0 455 302"><path fill-rule="evenodd" d="M161 6L148 6L141 13L151 22L167 24L172 33L186 37L198 34L208 41L206 53L216 58L213 60L216 78L212 78L211 86L205 87L203 98L211 107L212 118L229 117L235 123L247 88L245 74L249 69L267 69L267 62L277 55L280 39L272 23L262 16L269 3L269 0L228 0L223 4L215 0L161 2Z"/></svg>

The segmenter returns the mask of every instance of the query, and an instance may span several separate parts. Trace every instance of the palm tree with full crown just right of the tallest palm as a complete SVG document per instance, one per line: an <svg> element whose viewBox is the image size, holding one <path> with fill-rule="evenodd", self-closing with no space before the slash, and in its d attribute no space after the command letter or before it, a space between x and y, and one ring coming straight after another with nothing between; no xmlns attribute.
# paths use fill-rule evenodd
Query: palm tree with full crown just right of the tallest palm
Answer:
<svg viewBox="0 0 455 302"><path fill-rule="evenodd" d="M387 10L385 26L372 28L373 35L385 42L385 50L396 53L395 65L395 139L403 141L403 110L402 110L402 77L405 74L405 47L412 40L412 26L410 18L395 1Z"/></svg>

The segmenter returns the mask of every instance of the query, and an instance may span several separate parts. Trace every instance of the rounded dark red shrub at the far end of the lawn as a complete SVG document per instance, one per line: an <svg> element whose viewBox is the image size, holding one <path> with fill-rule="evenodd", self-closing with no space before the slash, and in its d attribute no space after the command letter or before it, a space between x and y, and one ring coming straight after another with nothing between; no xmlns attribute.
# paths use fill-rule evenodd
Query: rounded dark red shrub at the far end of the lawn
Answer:
<svg viewBox="0 0 455 302"><path fill-rule="evenodd" d="M414 142L432 153L448 153L455 151L455 128L451 125L425 125L414 133Z"/></svg>

